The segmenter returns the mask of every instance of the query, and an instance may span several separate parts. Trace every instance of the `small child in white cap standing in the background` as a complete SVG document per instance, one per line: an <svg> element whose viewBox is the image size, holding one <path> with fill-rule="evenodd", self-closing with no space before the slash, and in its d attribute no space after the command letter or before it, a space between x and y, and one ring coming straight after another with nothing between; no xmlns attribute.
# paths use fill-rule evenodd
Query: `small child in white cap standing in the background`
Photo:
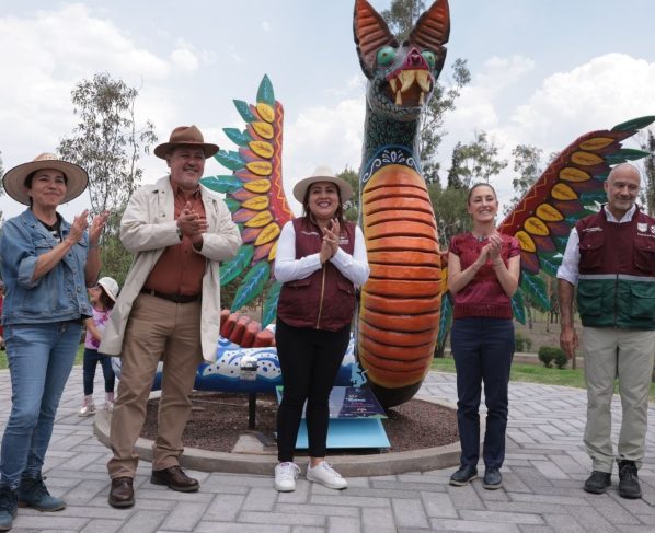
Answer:
<svg viewBox="0 0 655 533"><path fill-rule="evenodd" d="M89 301L93 316L87 318L87 338L84 340L84 405L78 416L91 416L95 414L93 404L93 381L95 380L95 367L102 364L102 373L105 379L105 405L106 410L114 407L114 382L115 375L112 370L112 357L97 351L105 324L110 318L114 302L118 296L118 283L110 277L100 278L95 287L89 289Z"/></svg>

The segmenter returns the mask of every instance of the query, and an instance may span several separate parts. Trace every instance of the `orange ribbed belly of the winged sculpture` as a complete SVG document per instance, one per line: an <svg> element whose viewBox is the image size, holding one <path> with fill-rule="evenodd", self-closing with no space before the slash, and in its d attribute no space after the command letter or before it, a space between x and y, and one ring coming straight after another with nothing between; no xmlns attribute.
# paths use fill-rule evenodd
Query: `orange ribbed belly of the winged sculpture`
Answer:
<svg viewBox="0 0 655 533"><path fill-rule="evenodd" d="M370 277L361 289L358 357L378 399L411 398L434 357L441 306L437 227L423 177L388 164L361 188Z"/></svg>

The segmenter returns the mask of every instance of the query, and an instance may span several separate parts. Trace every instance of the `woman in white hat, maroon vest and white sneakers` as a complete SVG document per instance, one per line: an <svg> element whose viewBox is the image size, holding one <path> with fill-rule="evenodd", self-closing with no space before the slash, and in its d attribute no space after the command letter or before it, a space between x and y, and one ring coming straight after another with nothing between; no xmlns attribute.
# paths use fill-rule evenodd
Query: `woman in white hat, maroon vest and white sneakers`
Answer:
<svg viewBox="0 0 655 533"><path fill-rule="evenodd" d="M291 491L300 468L294 452L307 399L307 479L334 489L346 480L325 461L330 391L351 338L355 288L368 278L361 230L343 218L351 185L325 167L298 182L303 216L285 224L275 277L283 288L275 339L284 385L277 413L275 488Z"/></svg>

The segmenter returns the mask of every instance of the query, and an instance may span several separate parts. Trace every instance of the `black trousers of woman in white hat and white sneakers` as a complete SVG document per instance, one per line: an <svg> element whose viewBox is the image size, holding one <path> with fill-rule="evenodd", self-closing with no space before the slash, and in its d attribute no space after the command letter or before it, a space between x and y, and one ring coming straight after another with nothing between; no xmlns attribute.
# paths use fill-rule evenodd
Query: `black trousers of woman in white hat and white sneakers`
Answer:
<svg viewBox="0 0 655 533"><path fill-rule="evenodd" d="M306 399L309 455L325 456L330 392L349 339L349 325L338 332L328 332L277 321L275 343L284 385L277 410L277 459L280 462L294 460Z"/></svg>

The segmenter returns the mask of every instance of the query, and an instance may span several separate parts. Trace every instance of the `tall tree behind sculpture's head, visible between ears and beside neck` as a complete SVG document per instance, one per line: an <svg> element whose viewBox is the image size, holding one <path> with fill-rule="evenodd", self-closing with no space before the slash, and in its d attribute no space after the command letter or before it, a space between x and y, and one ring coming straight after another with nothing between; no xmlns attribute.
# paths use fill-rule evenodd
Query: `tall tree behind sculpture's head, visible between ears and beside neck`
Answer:
<svg viewBox="0 0 655 533"><path fill-rule="evenodd" d="M425 11L423 0L393 0L388 10L380 14L399 43L404 42L418 16ZM471 72L464 59L456 59L451 67L449 83L444 83L444 74L435 83L433 96L423 115L420 134L420 150L423 176L427 183L439 181L439 162L436 160L439 144L447 135L444 129L446 114L456 108L460 90L470 83Z"/></svg>

